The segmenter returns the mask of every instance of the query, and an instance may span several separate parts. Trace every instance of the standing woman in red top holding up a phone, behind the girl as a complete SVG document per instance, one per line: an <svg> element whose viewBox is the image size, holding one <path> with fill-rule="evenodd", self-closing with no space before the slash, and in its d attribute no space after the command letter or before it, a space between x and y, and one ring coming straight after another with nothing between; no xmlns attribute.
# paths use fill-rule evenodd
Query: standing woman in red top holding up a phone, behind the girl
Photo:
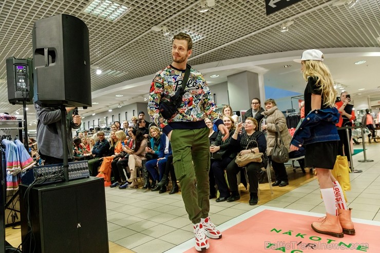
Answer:
<svg viewBox="0 0 380 253"><path fill-rule="evenodd" d="M340 113L340 118L336 127L352 126L352 122L355 120L355 113L352 110L351 114L345 111L346 106L351 102L351 98L347 98L347 92L340 93L340 101L335 103L335 107ZM338 143L338 154L346 155L348 162L350 161L349 148L351 147L351 129L349 129L349 140L347 139L346 129L338 129L340 141Z"/></svg>

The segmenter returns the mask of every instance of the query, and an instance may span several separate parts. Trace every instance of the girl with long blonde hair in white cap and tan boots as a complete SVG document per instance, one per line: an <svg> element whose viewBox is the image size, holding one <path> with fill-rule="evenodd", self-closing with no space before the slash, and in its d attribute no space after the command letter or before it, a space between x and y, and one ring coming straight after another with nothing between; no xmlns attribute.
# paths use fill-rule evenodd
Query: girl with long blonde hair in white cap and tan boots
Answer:
<svg viewBox="0 0 380 253"><path fill-rule="evenodd" d="M331 174L339 141L335 124L340 117L334 107L337 92L333 78L323 63L324 54L319 50L306 50L301 60L294 61L301 63L303 79L307 81L304 94L306 118L294 132L290 149L305 146L306 166L315 167L326 208L325 219L313 222L311 227L318 233L337 238L344 237L344 233L355 235L351 208L347 208L343 190Z"/></svg>

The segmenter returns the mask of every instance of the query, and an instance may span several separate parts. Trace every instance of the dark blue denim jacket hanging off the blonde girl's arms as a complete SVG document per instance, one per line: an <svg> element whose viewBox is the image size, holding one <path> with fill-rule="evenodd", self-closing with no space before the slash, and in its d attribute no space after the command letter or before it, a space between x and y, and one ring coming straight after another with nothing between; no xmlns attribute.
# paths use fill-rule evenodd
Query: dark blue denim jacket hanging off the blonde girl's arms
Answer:
<svg viewBox="0 0 380 253"><path fill-rule="evenodd" d="M339 116L335 107L311 111L294 132L291 144L301 147L316 142L338 141L335 124L338 123Z"/></svg>

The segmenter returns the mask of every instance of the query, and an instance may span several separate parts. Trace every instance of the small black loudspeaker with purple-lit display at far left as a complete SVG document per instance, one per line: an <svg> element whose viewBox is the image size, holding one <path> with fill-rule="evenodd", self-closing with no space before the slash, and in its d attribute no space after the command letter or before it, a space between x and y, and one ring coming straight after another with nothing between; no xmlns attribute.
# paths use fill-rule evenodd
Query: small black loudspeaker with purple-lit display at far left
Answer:
<svg viewBox="0 0 380 253"><path fill-rule="evenodd" d="M15 105L33 104L32 59L7 59L8 101Z"/></svg>

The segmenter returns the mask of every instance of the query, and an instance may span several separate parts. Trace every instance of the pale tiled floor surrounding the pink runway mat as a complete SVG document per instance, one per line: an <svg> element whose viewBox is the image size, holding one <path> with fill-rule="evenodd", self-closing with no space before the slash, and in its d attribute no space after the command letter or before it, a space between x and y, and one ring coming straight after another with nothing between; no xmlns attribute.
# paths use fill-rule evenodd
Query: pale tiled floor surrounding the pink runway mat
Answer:
<svg viewBox="0 0 380 253"><path fill-rule="evenodd" d="M350 173L348 207L353 208L353 218L380 221L380 144L367 144L366 148L367 160L374 162L358 162L364 159L363 152L353 156L354 168L363 172ZM210 203L211 219L216 225L259 206L240 202L216 203L215 200ZM180 194L107 187L106 205L109 241L133 251L164 252L194 237ZM285 193L265 203L265 206L326 212L320 199L317 180Z"/></svg>

